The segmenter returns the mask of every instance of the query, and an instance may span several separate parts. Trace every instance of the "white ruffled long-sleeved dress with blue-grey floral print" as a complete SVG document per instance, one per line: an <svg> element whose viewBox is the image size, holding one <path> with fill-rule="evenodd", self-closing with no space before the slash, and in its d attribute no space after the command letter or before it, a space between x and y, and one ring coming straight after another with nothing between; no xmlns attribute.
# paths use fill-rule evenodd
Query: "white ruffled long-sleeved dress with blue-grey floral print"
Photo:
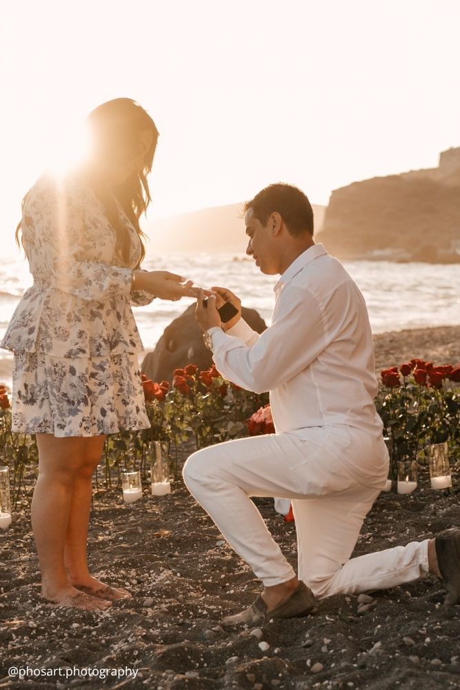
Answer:
<svg viewBox="0 0 460 690"><path fill-rule="evenodd" d="M150 426L131 304L153 297L131 290L141 245L119 213L132 239L128 266L81 175L43 175L28 194L22 232L34 283L0 344L14 352L13 431L95 436Z"/></svg>

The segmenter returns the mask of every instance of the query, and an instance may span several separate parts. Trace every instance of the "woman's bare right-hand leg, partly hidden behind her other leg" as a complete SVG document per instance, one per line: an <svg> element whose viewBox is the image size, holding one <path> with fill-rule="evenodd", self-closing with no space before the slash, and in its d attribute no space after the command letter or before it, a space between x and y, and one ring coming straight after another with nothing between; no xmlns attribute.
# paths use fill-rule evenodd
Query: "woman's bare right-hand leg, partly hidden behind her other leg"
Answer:
<svg viewBox="0 0 460 690"><path fill-rule="evenodd" d="M88 524L90 520L92 474L101 460L105 435L84 438L82 464L75 477L70 503L64 560L70 582L78 589L110 600L130 598L124 589L109 587L93 578L88 569Z"/></svg>

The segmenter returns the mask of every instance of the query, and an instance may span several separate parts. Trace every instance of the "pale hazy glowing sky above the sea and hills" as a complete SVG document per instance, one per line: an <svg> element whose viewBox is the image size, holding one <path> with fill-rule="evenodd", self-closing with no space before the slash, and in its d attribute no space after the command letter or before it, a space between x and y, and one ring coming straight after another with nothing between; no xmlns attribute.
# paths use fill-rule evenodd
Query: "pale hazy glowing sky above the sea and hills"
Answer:
<svg viewBox="0 0 460 690"><path fill-rule="evenodd" d="M50 152L114 97L160 131L150 218L279 180L327 204L460 146L459 0L14 0L1 24L7 250Z"/></svg>

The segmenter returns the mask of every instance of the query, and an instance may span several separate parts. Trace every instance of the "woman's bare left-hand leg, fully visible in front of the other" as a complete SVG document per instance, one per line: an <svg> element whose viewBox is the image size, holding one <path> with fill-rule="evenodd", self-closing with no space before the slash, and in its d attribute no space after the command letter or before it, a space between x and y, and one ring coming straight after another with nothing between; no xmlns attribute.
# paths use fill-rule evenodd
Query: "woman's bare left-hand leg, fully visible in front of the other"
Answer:
<svg viewBox="0 0 460 690"><path fill-rule="evenodd" d="M69 607L105 609L109 601L85 595L72 586L64 560L72 493L83 464L85 440L37 434L39 476L32 498L32 529L43 597Z"/></svg>

